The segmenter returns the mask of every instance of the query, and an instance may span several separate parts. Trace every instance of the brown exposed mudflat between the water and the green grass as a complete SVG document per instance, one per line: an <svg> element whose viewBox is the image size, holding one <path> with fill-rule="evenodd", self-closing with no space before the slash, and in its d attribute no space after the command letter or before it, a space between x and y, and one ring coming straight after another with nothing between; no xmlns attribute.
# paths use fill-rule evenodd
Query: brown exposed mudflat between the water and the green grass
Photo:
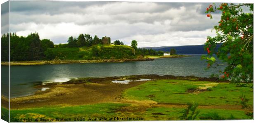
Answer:
<svg viewBox="0 0 256 123"><path fill-rule="evenodd" d="M50 88L44 91L37 91L34 95L11 98L11 109L24 109L33 107L43 107L49 105L72 106L72 105L86 105L94 103L130 103L145 107L186 107L184 104L171 103L157 103L152 100L126 100L121 94L123 90L143 84L146 81L136 81L140 79L179 79L191 81L214 81L214 82L228 82L220 81L217 78L201 78L201 77L175 77L171 75L131 75L122 77L103 77L103 78L80 78L77 80L70 80L62 84L51 83L46 85L36 85L35 88ZM134 80L128 84L112 83L113 80ZM2 97L2 106L7 106L7 98ZM235 105L200 105L199 108L216 108L216 109L241 109L240 106ZM120 109L128 110L128 109Z"/></svg>

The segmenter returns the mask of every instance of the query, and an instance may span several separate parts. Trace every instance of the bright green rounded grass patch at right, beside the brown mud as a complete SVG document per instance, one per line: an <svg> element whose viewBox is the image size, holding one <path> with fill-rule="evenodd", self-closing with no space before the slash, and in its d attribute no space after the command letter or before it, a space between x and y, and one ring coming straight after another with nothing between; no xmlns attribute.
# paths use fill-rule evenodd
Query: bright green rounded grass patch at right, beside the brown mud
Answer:
<svg viewBox="0 0 256 123"><path fill-rule="evenodd" d="M189 93L191 87L202 91ZM204 89L209 89L209 91ZM154 100L159 103L199 105L239 105L239 96L245 95L253 104L253 91L250 88L236 87L234 84L215 82L194 82L187 80L157 80L127 89L123 96L133 100Z"/></svg>

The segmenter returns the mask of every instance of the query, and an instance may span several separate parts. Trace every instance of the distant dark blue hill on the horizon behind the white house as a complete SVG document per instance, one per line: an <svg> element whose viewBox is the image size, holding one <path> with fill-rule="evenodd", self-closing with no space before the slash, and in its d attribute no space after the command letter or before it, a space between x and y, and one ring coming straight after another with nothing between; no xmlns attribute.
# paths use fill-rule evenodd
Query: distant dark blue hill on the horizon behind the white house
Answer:
<svg viewBox="0 0 256 123"><path fill-rule="evenodd" d="M171 48L174 48L177 54L207 54L204 51L205 45L191 45L191 46L162 46L162 47L146 47L146 49L152 48L156 51L170 52Z"/></svg>

